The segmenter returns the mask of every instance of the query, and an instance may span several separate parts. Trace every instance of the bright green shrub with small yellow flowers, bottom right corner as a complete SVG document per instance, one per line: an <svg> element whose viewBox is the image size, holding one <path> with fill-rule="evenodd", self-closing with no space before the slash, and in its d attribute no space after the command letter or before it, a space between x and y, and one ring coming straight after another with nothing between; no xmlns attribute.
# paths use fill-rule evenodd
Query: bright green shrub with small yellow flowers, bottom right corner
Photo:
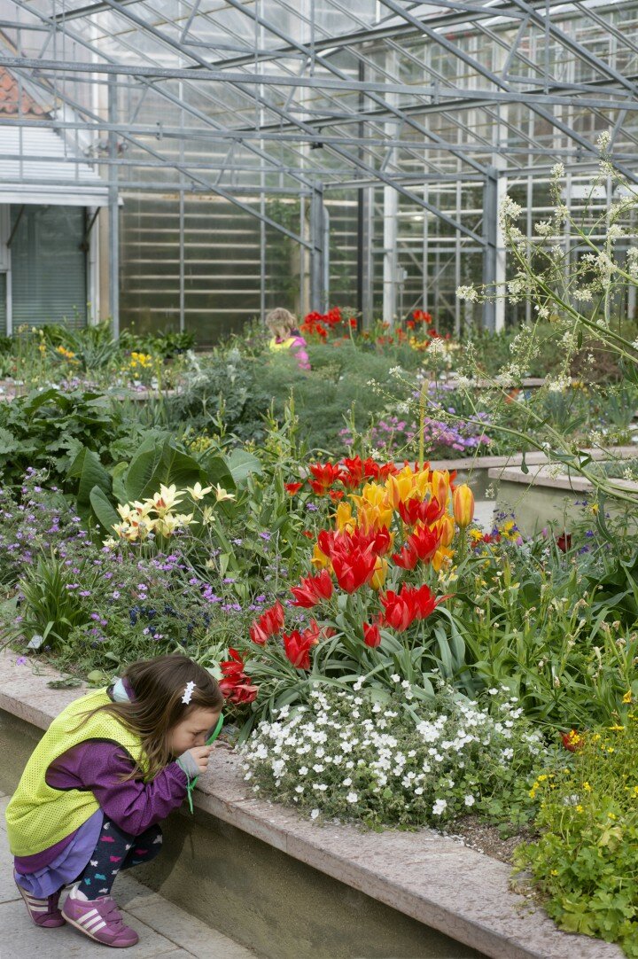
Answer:
<svg viewBox="0 0 638 959"><path fill-rule="evenodd" d="M627 693L627 697L628 693ZM617 942L638 956L638 717L577 740L573 764L541 777L538 842L516 862L568 932Z"/></svg>

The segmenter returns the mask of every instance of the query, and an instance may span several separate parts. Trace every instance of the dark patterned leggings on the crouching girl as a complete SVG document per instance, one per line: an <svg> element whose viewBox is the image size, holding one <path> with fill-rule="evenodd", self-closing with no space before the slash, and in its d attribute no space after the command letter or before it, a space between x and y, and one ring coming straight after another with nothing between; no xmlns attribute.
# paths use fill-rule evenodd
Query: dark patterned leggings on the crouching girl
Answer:
<svg viewBox="0 0 638 959"><path fill-rule="evenodd" d="M161 850L161 844L162 830L158 826L132 836L105 819L95 850L77 880L84 896L90 900L108 896L121 869L150 862Z"/></svg>

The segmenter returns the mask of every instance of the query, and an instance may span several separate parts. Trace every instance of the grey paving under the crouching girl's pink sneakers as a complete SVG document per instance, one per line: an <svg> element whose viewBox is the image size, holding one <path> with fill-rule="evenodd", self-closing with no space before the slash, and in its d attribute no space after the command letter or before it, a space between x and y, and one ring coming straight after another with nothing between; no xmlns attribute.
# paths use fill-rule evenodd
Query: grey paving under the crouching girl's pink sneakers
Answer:
<svg viewBox="0 0 638 959"><path fill-rule="evenodd" d="M4 810L9 797L0 793L0 959L106 959L108 948L62 925L40 929L32 923L12 877ZM125 922L140 941L130 947L134 959L255 959L254 952L190 916L136 879L120 876L113 889Z"/></svg>

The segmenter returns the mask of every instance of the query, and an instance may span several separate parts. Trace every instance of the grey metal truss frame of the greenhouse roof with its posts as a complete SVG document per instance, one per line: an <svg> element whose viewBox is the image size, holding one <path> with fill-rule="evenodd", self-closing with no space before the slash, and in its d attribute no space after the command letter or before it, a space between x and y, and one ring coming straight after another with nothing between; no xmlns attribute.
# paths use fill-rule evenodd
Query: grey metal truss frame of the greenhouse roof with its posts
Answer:
<svg viewBox="0 0 638 959"><path fill-rule="evenodd" d="M56 129L84 145L60 162L106 172L111 271L120 191L227 200L307 251L321 307L325 202L339 191L364 202L381 188L395 209L436 218L484 251L494 281L492 206L508 177L546 176L556 159L594 169L596 132L610 129L612 159L638 182L638 0L74 2L0 0L0 67L44 110L0 115L0 132ZM476 182L481 222L428 189ZM307 200L297 228L269 197ZM111 296L117 322L112 277Z"/></svg>

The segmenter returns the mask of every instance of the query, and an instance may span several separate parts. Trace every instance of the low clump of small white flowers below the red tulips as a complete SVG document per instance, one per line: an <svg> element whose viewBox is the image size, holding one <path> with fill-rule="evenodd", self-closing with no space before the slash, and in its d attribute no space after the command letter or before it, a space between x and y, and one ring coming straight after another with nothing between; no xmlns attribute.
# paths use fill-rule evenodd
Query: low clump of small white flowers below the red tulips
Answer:
<svg viewBox="0 0 638 959"><path fill-rule="evenodd" d="M553 754L515 698L489 691L484 706L445 688L414 705L400 683L388 698L360 686L354 710L350 692L316 690L308 708L259 725L245 767L253 789L312 818L437 826L471 808L524 821Z"/></svg>

